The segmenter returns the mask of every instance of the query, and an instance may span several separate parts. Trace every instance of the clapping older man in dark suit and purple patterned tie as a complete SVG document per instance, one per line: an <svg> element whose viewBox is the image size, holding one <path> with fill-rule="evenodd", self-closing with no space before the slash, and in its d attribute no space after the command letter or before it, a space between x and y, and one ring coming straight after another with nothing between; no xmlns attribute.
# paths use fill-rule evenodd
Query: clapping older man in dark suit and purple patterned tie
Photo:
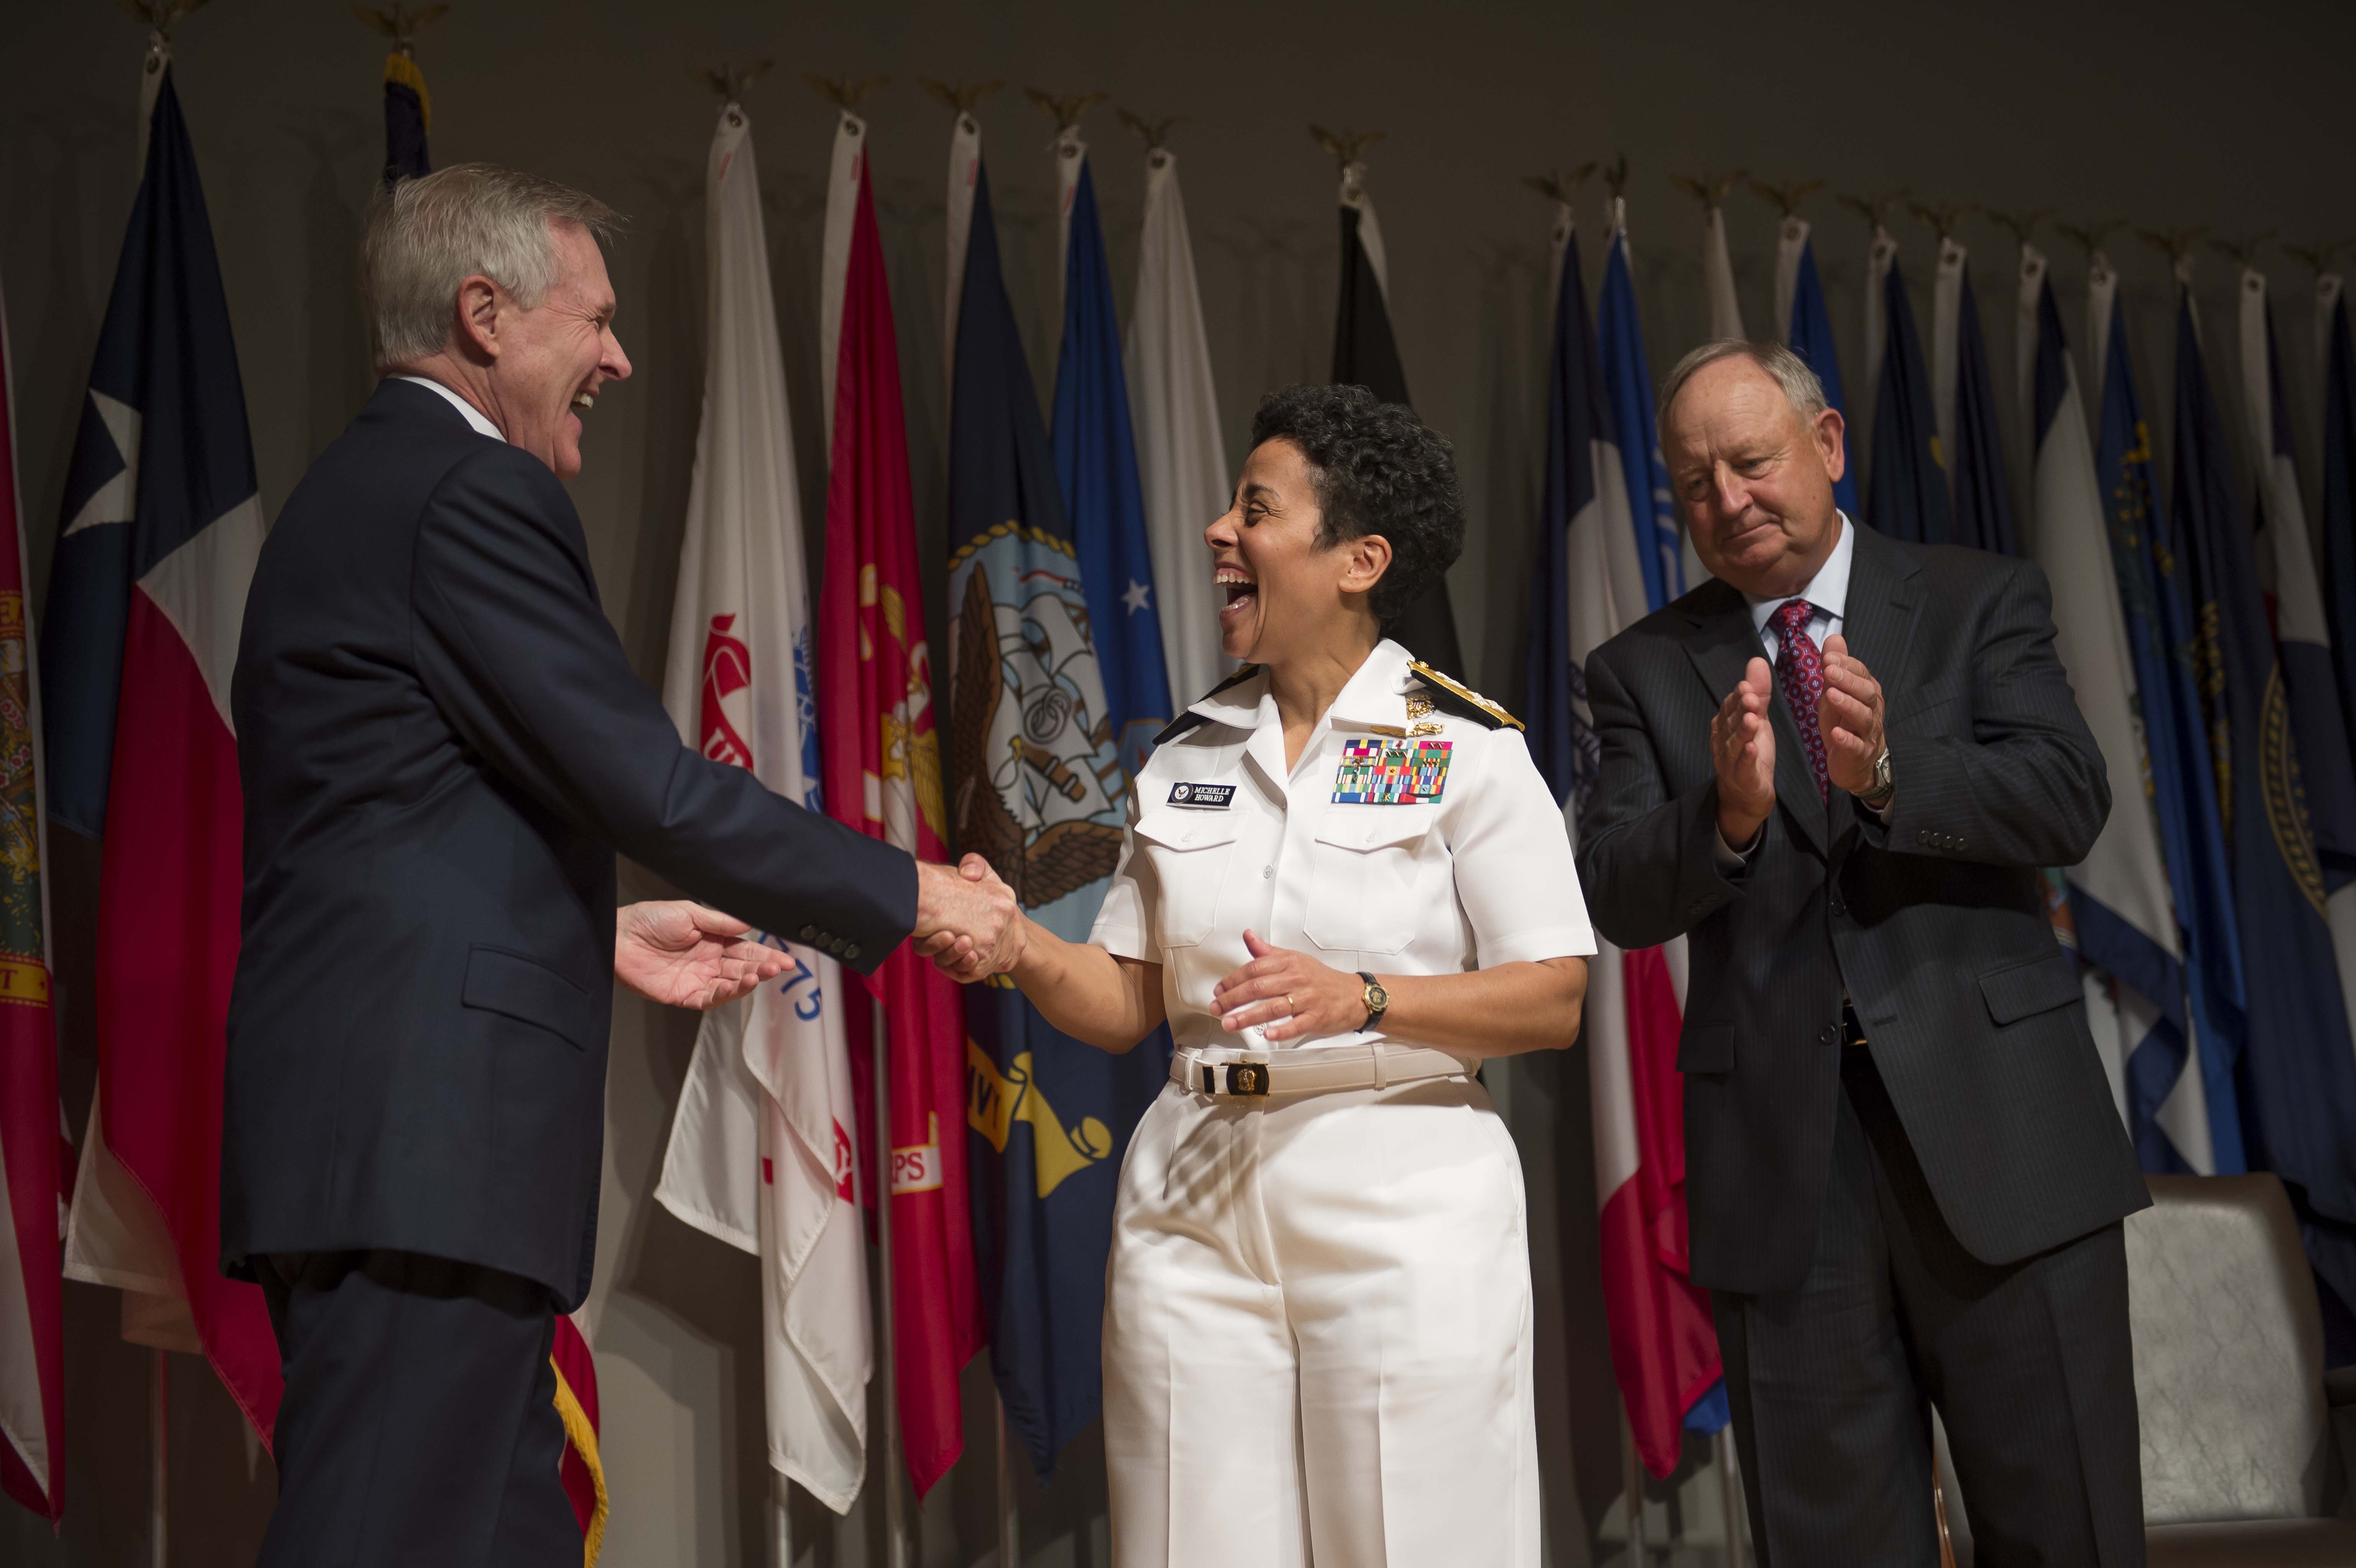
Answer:
<svg viewBox="0 0 2356 1568"><path fill-rule="evenodd" d="M1586 666L1579 869L1614 942L1692 942L1692 1269L1760 1559L1932 1568L1937 1406L1981 1568L2142 1563L2149 1198L2040 873L2111 793L2045 577L1845 518L1783 348L1687 356L1661 447L1715 582Z"/></svg>

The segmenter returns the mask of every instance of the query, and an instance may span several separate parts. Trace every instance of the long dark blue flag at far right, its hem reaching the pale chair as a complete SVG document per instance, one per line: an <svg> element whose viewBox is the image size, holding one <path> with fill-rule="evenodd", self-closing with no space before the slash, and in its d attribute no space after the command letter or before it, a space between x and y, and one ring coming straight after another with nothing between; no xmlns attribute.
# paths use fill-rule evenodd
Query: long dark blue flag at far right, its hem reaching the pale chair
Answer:
<svg viewBox="0 0 2356 1568"><path fill-rule="evenodd" d="M2175 513L2248 977L2241 1076L2250 1165L2283 1177L2309 1262L2356 1307L2356 1048L2323 923L2323 866L2283 669L2191 290L2177 297Z"/></svg>

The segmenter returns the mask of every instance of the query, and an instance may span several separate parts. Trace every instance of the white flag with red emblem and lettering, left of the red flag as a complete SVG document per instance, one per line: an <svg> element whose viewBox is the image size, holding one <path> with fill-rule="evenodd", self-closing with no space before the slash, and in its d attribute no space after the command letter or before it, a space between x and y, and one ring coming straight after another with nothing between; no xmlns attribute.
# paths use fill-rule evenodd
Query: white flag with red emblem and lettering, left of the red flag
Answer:
<svg viewBox="0 0 2356 1568"><path fill-rule="evenodd" d="M721 108L704 177L709 337L662 699L704 756L818 805L808 589L752 120ZM704 1015L655 1198L761 1257L768 1462L846 1511L867 1474L867 1253L841 970L794 968Z"/></svg>

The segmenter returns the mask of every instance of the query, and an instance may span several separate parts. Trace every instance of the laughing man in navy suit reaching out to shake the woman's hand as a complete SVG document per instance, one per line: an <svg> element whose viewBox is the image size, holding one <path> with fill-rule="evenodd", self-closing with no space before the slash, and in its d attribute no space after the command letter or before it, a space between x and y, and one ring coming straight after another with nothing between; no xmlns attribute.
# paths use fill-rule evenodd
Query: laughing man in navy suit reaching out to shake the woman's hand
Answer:
<svg viewBox="0 0 2356 1568"><path fill-rule="evenodd" d="M1015 942L1004 890L683 746L622 655L558 483L629 374L610 221L488 165L379 198L386 379L245 605L221 1264L285 1368L271 1566L580 1563L549 1344L589 1290L615 979L742 996L792 963L742 921L862 972ZM617 913L615 850L702 904Z"/></svg>

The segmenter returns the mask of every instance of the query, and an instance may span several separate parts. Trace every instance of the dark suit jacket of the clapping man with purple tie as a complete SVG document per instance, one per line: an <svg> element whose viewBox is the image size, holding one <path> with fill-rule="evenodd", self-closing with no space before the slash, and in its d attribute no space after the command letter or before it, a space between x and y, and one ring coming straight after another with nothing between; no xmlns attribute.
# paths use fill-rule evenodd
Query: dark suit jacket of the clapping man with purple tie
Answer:
<svg viewBox="0 0 2356 1568"><path fill-rule="evenodd" d="M1677 1069L1692 1274L1807 1276L1840 1095L1840 1005L1955 1238L2012 1262L2142 1208L2040 866L2111 810L2102 753L2026 560L1859 530L1849 652L1882 683L1897 803L1831 805L1776 695L1776 810L1734 876L1715 857L1710 716L1762 652L1743 596L1703 584L1588 659L1602 739L1579 871L1621 946L1689 937Z"/></svg>

